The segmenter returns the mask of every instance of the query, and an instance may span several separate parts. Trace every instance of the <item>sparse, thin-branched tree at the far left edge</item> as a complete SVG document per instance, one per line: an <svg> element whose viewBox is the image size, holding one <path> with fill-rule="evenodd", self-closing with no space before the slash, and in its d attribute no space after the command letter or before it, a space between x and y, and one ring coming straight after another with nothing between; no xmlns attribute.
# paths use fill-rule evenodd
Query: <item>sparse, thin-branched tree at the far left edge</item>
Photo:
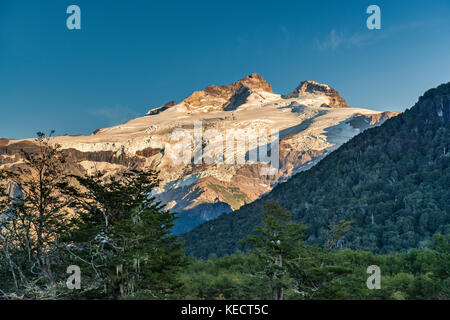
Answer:
<svg viewBox="0 0 450 320"><path fill-rule="evenodd" d="M61 192L69 180L58 145L38 133L33 150L21 153L22 164L0 171L0 250L14 292L27 295L56 285L54 252L72 199Z"/></svg>

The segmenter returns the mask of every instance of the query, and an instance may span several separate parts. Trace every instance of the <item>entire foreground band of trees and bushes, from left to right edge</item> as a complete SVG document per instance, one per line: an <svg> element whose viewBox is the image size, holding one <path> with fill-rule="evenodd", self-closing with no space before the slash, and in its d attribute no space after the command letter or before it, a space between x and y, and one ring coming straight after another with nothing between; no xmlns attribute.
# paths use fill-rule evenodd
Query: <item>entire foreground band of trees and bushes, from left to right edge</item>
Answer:
<svg viewBox="0 0 450 320"><path fill-rule="evenodd" d="M171 233L176 216L148 196L156 173L70 175L58 146L43 135L36 144L23 165L0 173L1 299L450 298L448 236L374 255L340 250L353 221L339 220L318 246L267 202L241 241L247 253L199 260ZM374 265L381 283L371 290Z"/></svg>

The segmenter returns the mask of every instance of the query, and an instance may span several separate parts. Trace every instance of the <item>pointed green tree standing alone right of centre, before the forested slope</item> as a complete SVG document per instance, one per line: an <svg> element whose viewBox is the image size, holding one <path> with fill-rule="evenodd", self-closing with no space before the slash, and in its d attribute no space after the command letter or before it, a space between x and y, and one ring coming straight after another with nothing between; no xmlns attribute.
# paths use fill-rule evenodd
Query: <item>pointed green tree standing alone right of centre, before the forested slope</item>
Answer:
<svg viewBox="0 0 450 320"><path fill-rule="evenodd" d="M283 300L285 292L293 299L313 299L329 283L351 272L348 265L335 263L331 247L348 231L350 222L331 225L329 246L320 248L305 243L306 227L291 221L291 214L276 202L267 202L263 225L250 244L265 276L269 279L274 300Z"/></svg>

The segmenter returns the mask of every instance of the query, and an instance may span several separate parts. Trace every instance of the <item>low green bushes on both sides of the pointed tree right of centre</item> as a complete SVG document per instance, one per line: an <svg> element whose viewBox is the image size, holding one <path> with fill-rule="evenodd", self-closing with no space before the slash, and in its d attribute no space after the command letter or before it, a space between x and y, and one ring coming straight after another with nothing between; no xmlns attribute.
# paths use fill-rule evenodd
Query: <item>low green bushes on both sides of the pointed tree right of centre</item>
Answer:
<svg viewBox="0 0 450 320"><path fill-rule="evenodd" d="M441 241L442 238L438 237ZM408 253L373 255L350 249L333 250L323 258L342 274L314 275L323 284L316 291L299 289L297 279L288 277L285 299L450 299L448 238L440 251L413 249ZM445 251L443 251L445 250ZM381 289L369 290L367 267L381 270ZM446 269L445 269L446 268ZM262 263L253 253L236 253L207 261L192 258L184 270L183 299L273 299ZM320 271L320 270L319 270ZM346 271L346 272L344 272ZM322 275L320 275L322 274ZM308 293L308 294L307 294Z"/></svg>

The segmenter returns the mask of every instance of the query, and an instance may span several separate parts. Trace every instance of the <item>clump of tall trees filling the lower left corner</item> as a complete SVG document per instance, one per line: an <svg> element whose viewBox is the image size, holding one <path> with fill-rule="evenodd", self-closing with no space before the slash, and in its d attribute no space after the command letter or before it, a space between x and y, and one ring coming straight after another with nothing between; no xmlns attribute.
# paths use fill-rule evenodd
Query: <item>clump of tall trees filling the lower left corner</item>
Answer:
<svg viewBox="0 0 450 320"><path fill-rule="evenodd" d="M0 298L166 298L185 265L175 215L150 197L155 172L69 175L39 133L23 163L0 171ZM68 290L69 266L81 290Z"/></svg>

